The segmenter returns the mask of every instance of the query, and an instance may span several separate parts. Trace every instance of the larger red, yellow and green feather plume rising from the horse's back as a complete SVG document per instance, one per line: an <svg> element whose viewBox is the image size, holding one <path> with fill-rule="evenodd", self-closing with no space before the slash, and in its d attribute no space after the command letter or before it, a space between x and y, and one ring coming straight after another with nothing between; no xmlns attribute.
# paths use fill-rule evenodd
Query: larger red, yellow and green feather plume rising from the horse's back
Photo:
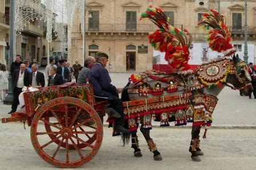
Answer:
<svg viewBox="0 0 256 170"><path fill-rule="evenodd" d="M149 6L146 13L141 14L141 19L150 19L158 26L158 30L149 34L149 42L154 49L165 52L165 60L174 72L188 70L191 34L187 30L179 30L171 26L169 18L158 7Z"/></svg>

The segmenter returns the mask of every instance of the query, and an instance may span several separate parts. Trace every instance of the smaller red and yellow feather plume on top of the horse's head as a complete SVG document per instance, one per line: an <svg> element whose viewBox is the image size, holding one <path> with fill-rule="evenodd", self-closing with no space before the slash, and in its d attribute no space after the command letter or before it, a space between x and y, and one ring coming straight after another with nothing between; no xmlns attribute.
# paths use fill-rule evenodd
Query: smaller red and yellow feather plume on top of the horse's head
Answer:
<svg viewBox="0 0 256 170"><path fill-rule="evenodd" d="M225 56L235 53L235 48L231 44L231 33L225 24L225 16L215 10L203 14L201 22L198 23L206 31L207 42L213 51L222 52Z"/></svg>

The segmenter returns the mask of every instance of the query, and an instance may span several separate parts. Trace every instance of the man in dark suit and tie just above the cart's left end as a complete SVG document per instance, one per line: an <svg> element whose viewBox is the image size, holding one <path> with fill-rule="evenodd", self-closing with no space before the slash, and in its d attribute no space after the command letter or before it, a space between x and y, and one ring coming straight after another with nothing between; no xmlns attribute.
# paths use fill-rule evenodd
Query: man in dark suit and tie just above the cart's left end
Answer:
<svg viewBox="0 0 256 170"><path fill-rule="evenodd" d="M31 65L32 69L32 76L31 77L31 86L33 88L37 88L37 86L45 86L45 76L43 76L43 73L38 72L38 65L37 64L32 64Z"/></svg>

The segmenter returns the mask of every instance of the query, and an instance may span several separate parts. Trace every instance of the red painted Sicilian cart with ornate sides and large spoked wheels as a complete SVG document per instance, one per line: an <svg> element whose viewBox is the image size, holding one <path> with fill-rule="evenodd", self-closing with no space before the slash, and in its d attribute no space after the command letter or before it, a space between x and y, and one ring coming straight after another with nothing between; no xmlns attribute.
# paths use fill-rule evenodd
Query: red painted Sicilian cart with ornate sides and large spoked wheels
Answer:
<svg viewBox="0 0 256 170"><path fill-rule="evenodd" d="M2 123L27 122L35 151L56 167L77 167L102 143L105 101L95 102L90 84L64 84L23 93L25 107Z"/></svg>

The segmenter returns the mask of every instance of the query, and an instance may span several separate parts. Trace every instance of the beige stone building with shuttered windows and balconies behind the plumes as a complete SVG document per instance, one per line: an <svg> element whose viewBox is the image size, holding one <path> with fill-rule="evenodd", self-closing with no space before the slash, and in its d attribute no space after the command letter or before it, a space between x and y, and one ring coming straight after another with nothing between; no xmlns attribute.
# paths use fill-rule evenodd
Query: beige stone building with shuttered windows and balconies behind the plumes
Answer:
<svg viewBox="0 0 256 170"><path fill-rule="evenodd" d="M256 1L247 0L248 44L250 61L254 61L256 21ZM178 28L187 28L193 35L194 46L201 45L202 52L198 57L207 59L205 34L197 26L201 16L210 9L220 11L226 16L233 44L243 55L245 31L245 1L231 0L89 0L86 1L86 51L85 57L94 56L103 51L109 54L108 69L110 72L141 72L151 69L154 51L148 43L147 35L156 27L149 20L139 20L140 14L149 5L161 7L170 18L171 24ZM69 60L82 62L83 43L81 24L78 13L74 16L72 29L72 47L69 49ZM89 18L89 16L92 16ZM204 49L205 48L205 49ZM205 57L203 57L203 53ZM192 63L200 64L200 63Z"/></svg>

